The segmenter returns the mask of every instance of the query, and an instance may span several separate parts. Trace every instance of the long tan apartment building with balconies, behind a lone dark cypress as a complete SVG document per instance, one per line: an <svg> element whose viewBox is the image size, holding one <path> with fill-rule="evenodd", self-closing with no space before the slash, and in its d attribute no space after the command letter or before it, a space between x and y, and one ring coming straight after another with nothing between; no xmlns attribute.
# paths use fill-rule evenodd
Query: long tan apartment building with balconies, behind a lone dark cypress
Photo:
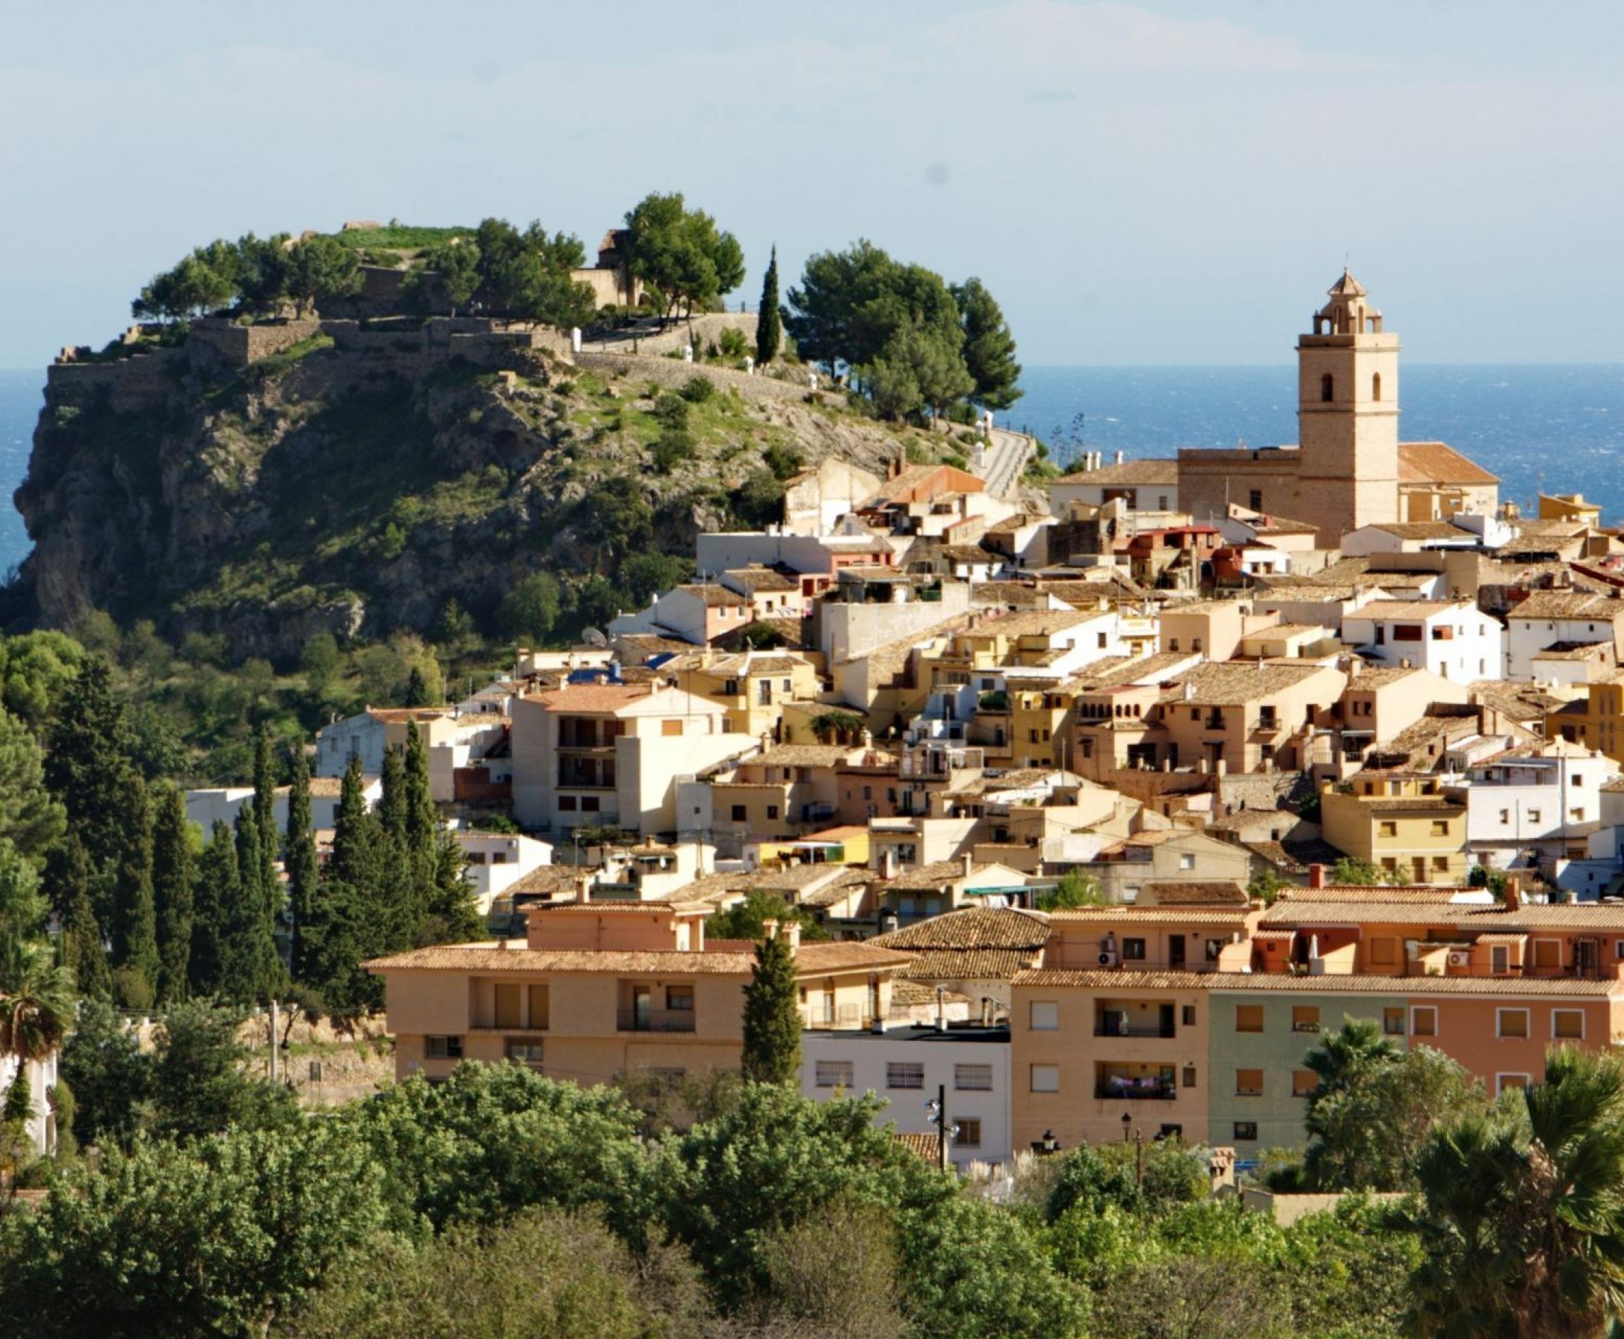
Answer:
<svg viewBox="0 0 1624 1339"><path fill-rule="evenodd" d="M705 945L710 904L578 902L529 914L523 945L442 945L367 962L383 977L395 1074L447 1078L461 1060L512 1060L612 1083L739 1066L754 948ZM776 930L776 927L775 927ZM809 1027L867 1027L890 1010L908 956L786 938Z"/></svg>

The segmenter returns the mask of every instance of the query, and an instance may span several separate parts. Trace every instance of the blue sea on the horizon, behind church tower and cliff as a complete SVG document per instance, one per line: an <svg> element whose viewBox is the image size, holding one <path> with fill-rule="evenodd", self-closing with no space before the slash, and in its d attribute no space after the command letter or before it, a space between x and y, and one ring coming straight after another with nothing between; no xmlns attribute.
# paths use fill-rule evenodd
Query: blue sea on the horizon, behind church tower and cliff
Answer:
<svg viewBox="0 0 1624 1339"><path fill-rule="evenodd" d="M10 505L28 471L44 373L0 370L0 573L29 542ZM1179 446L1298 440L1296 372L1280 367L1031 367L999 415L1067 464L1077 453L1168 456ZM1406 365L1400 433L1447 441L1501 477L1501 497L1582 492L1624 521L1624 365Z"/></svg>

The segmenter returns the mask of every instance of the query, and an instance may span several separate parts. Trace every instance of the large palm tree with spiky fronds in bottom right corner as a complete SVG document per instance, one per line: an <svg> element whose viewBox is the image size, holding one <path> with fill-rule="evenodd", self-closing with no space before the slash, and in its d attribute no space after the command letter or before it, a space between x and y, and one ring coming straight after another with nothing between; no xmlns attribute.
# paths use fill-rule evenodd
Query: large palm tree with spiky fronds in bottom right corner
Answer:
<svg viewBox="0 0 1624 1339"><path fill-rule="evenodd" d="M1603 1339L1624 1316L1624 1058L1551 1050L1544 1083L1432 1131L1408 1225L1423 1339Z"/></svg>

